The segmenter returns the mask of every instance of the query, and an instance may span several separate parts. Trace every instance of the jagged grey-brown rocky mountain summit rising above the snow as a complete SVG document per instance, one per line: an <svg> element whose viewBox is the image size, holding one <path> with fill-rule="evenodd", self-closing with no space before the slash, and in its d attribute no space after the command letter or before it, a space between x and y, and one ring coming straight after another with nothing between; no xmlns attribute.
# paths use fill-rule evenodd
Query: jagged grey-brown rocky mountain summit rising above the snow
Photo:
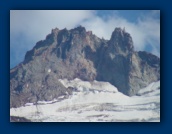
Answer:
<svg viewBox="0 0 172 134"><path fill-rule="evenodd" d="M110 40L98 38L82 26L55 28L10 70L10 107L66 98L72 87L59 79L109 82L126 95L160 80L160 58L135 51L132 37L115 28Z"/></svg>

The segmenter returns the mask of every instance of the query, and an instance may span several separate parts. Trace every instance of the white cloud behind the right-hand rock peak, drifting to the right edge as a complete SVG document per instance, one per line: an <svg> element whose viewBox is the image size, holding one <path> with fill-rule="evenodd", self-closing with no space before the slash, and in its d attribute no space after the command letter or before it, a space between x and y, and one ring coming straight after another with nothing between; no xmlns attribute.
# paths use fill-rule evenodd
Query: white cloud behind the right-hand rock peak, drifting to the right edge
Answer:
<svg viewBox="0 0 172 134"><path fill-rule="evenodd" d="M155 12L155 11L153 11ZM157 13L157 12L156 12ZM152 18L155 13L138 18L135 23L129 22L127 19L117 16L110 16L107 20L96 16L90 20L82 22L87 29L92 30L99 37L110 39L115 27L126 29L131 34L134 47L137 51L145 50L147 45L151 45L152 53L160 56L160 22Z"/></svg>

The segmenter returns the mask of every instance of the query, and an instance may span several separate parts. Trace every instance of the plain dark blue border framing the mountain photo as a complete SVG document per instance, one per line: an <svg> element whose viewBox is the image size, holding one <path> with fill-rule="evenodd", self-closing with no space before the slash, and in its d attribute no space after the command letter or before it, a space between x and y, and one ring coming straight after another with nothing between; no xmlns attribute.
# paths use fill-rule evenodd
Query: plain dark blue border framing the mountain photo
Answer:
<svg viewBox="0 0 172 134"><path fill-rule="evenodd" d="M1 133L170 133L171 105L171 7L160 0L0 0L0 131ZM160 123L10 123L10 10L146 10L161 11L161 122ZM17 48L16 48L17 49Z"/></svg>

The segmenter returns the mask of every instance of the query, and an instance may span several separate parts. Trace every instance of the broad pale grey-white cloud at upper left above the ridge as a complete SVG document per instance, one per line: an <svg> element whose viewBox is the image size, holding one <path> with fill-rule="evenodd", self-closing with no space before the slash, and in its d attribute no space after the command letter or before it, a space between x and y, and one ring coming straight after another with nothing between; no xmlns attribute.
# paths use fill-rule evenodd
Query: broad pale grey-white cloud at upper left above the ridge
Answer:
<svg viewBox="0 0 172 134"><path fill-rule="evenodd" d="M73 28L92 17L92 11L77 10L11 10L10 33L23 33L34 41L44 39L52 28Z"/></svg>

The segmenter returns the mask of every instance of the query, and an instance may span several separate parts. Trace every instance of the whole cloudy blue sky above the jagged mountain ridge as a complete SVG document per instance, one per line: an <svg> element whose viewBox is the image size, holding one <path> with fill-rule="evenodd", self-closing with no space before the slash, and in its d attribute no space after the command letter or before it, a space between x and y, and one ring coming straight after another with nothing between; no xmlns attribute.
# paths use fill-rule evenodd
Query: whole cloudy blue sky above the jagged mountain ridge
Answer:
<svg viewBox="0 0 172 134"><path fill-rule="evenodd" d="M26 52L52 29L79 25L105 39L116 27L125 27L136 51L160 57L160 10L11 10L10 68L22 62Z"/></svg>

